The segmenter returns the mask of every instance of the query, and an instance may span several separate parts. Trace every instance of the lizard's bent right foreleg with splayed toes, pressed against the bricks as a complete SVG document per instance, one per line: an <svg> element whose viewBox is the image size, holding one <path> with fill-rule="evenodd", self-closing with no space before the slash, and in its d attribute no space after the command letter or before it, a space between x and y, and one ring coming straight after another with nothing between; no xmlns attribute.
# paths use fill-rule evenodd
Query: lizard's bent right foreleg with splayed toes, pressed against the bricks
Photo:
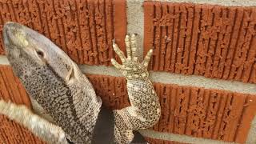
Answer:
<svg viewBox="0 0 256 144"><path fill-rule="evenodd" d="M131 105L122 110L114 110L116 131L120 133L116 135L122 137L122 143L127 143L133 138L132 130L154 126L158 122L161 112L158 96L147 71L153 50L146 54L143 62L138 62L136 35L133 34L131 38L126 35L125 41L127 58L115 43L113 45L122 65L114 59L111 60L112 64L126 77Z"/></svg>

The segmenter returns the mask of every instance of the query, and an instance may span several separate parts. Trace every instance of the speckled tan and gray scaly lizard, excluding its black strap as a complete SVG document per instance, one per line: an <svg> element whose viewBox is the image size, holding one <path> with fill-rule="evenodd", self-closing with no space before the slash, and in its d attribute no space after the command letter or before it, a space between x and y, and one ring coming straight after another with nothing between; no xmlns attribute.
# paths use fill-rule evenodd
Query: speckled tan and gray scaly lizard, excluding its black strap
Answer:
<svg viewBox="0 0 256 144"><path fill-rule="evenodd" d="M26 126L48 143L66 143L66 138L78 144L90 143L102 100L78 66L48 38L18 23L8 22L3 38L14 73L33 103L41 107L42 113L50 115L51 120L46 121L24 106L1 100L0 114ZM115 143L130 143L134 137L132 130L154 126L160 117L158 97L146 70L152 50L139 63L135 35L126 36L126 47L127 58L114 44L122 65L111 61L126 77L131 102L129 107L114 110Z"/></svg>

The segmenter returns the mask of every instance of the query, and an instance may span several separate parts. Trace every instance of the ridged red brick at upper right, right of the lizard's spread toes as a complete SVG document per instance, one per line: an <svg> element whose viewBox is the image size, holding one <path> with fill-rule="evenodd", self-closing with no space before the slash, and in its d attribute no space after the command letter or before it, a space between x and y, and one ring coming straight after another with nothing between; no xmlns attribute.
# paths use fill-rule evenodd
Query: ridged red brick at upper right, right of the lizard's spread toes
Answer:
<svg viewBox="0 0 256 144"><path fill-rule="evenodd" d="M144 2L151 70L256 83L256 8Z"/></svg>

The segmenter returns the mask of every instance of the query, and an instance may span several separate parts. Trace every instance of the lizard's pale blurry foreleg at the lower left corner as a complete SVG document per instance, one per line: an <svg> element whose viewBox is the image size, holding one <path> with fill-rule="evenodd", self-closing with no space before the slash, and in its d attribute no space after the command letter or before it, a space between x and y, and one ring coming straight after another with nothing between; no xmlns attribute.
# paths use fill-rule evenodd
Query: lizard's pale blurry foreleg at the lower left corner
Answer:
<svg viewBox="0 0 256 144"><path fill-rule="evenodd" d="M0 100L0 114L18 122L33 134L50 144L68 144L62 128L33 114L26 106L18 106L11 102Z"/></svg>

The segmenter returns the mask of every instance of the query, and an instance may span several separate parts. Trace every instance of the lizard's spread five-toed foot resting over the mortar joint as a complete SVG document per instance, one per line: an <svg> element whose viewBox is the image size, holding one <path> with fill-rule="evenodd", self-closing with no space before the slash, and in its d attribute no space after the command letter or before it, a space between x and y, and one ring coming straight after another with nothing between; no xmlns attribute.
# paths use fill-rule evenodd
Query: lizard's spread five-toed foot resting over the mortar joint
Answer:
<svg viewBox="0 0 256 144"><path fill-rule="evenodd" d="M136 44L136 35L132 34L126 35L126 53L125 54L118 48L118 45L113 42L113 48L116 54L118 54L119 58L122 61L122 65L116 62L113 58L111 59L111 63L114 67L116 67L127 79L146 79L149 77L149 72L147 70L147 66L150 62L150 57L153 54L153 49L150 49L146 57L142 62L138 62L137 56L137 44Z"/></svg>

